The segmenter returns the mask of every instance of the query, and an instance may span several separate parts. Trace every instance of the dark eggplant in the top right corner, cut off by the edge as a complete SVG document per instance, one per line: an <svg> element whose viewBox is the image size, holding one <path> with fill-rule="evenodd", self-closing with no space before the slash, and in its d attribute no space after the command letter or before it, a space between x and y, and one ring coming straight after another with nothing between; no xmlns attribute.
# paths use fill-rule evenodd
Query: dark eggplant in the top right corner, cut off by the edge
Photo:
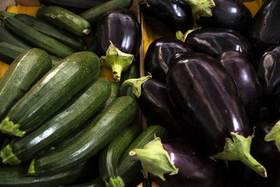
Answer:
<svg viewBox="0 0 280 187"><path fill-rule="evenodd" d="M248 28L248 39L258 53L280 44L280 1L269 0L255 14Z"/></svg>

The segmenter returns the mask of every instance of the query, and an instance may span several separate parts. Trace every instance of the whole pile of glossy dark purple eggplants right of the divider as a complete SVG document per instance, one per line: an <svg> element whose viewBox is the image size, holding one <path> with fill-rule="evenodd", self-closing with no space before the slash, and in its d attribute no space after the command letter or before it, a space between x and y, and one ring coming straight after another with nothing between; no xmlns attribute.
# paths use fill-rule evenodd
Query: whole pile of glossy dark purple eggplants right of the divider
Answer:
<svg viewBox="0 0 280 187"><path fill-rule="evenodd" d="M279 186L280 1L254 16L239 0L140 8L165 35L147 50L146 76L121 93L170 133L130 152L144 177L161 187Z"/></svg>

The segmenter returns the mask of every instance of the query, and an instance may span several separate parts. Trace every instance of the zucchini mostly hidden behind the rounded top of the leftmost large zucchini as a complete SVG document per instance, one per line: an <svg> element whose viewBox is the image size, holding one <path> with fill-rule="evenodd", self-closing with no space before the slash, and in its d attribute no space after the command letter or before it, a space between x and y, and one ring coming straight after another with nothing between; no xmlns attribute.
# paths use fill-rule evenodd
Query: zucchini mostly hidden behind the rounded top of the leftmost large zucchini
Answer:
<svg viewBox="0 0 280 187"><path fill-rule="evenodd" d="M16 57L18 57L25 51L26 50L24 48L14 46L13 44L3 41L0 42L0 60L5 62L6 64L12 63ZM60 60L62 60L61 58L54 55L50 55L50 59L52 60L52 67L54 67Z"/></svg>

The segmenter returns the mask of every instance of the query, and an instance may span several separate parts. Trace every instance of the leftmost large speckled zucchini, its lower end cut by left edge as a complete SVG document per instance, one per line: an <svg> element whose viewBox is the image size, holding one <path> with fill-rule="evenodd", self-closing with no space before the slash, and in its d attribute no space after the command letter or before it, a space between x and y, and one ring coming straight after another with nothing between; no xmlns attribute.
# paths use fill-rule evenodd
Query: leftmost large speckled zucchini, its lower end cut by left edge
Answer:
<svg viewBox="0 0 280 187"><path fill-rule="evenodd" d="M0 120L52 67L44 50L33 48L18 56L0 80Z"/></svg>

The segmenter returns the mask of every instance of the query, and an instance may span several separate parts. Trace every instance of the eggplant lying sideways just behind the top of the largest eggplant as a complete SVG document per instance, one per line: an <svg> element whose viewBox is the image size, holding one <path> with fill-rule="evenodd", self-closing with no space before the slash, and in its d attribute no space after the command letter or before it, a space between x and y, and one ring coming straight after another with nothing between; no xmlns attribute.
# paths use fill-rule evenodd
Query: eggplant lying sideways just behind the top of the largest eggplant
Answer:
<svg viewBox="0 0 280 187"><path fill-rule="evenodd" d="M201 28L188 34L186 43L197 53L205 53L211 57L218 57L228 50L243 53L248 60L253 58L249 41L232 29Z"/></svg>

